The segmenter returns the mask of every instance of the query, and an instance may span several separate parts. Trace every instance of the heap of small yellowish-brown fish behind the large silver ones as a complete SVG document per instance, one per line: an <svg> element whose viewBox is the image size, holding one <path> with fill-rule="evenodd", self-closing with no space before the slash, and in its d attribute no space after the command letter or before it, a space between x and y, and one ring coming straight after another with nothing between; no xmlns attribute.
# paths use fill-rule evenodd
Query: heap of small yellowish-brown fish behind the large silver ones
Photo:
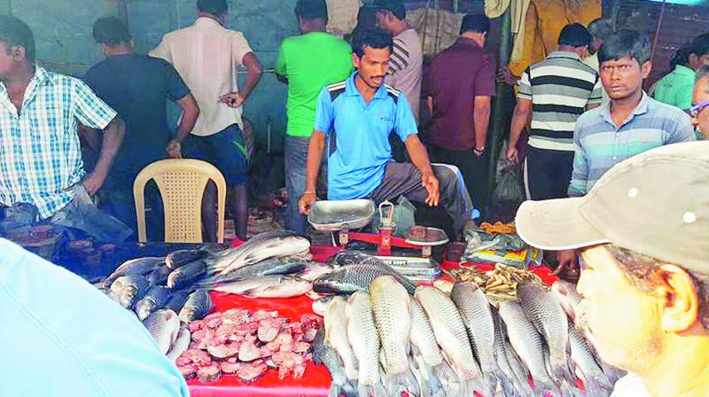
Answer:
<svg viewBox="0 0 709 397"><path fill-rule="evenodd" d="M540 276L533 271L495 264L495 269L480 271L475 268L460 267L447 273L456 281L472 281L477 284L488 298L510 300L517 297L517 285L525 283L543 284Z"/></svg>

